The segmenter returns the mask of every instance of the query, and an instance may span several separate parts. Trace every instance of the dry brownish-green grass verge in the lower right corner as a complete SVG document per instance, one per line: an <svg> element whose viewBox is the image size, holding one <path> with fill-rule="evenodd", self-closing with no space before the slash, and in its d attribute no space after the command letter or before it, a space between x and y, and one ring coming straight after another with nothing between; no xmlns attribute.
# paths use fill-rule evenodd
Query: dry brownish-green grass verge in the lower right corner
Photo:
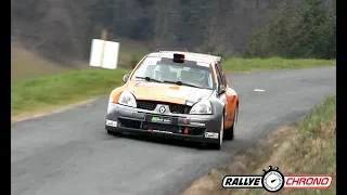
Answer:
<svg viewBox="0 0 347 195"><path fill-rule="evenodd" d="M262 174L268 166L290 174L332 174L329 190L287 190L278 194L336 194L336 94L327 96L299 125L284 127L226 167L213 169L193 182L183 195L269 194L265 190L223 190L227 174Z"/></svg>

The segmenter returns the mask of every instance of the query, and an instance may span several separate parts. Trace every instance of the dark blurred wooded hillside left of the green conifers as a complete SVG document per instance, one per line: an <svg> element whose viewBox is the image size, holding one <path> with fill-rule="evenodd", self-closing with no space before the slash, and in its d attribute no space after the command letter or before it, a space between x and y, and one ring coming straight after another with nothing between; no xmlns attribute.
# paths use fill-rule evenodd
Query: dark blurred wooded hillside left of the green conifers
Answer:
<svg viewBox="0 0 347 195"><path fill-rule="evenodd" d="M88 58L90 40L108 29L149 48L241 53L248 36L283 0L11 1L13 39L54 61Z"/></svg>

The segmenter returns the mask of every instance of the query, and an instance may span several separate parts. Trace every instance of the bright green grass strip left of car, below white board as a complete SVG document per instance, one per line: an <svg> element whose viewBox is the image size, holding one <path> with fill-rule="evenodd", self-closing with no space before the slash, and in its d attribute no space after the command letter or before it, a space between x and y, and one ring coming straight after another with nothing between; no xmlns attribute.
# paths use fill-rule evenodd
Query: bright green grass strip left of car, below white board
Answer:
<svg viewBox="0 0 347 195"><path fill-rule="evenodd" d="M11 116L107 94L129 69L88 69L17 82L11 87Z"/></svg>

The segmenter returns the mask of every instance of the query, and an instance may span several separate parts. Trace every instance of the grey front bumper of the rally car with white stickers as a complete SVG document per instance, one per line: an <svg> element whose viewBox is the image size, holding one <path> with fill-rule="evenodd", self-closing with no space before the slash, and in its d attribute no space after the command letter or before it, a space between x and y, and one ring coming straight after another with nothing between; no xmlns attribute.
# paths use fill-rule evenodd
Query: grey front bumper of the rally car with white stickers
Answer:
<svg viewBox="0 0 347 195"><path fill-rule="evenodd" d="M197 142L219 142L221 118L215 115L159 114L108 103L105 129Z"/></svg>

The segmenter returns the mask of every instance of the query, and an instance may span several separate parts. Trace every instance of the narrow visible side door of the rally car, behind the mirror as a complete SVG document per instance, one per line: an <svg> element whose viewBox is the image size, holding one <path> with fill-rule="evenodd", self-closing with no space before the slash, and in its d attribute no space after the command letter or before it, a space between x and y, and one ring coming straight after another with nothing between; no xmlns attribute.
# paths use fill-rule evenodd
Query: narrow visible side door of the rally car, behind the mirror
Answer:
<svg viewBox="0 0 347 195"><path fill-rule="evenodd" d="M229 105L230 102L230 98L228 96L228 88L227 88L227 83L224 82L223 78L222 78L222 74L218 67L218 64L215 64L215 69L217 73L217 79L218 79L218 88L220 87L220 84L223 84L226 87L226 92L222 94L219 94L219 99L226 104L226 109L224 109L224 128L230 128L232 126L232 112Z"/></svg>

